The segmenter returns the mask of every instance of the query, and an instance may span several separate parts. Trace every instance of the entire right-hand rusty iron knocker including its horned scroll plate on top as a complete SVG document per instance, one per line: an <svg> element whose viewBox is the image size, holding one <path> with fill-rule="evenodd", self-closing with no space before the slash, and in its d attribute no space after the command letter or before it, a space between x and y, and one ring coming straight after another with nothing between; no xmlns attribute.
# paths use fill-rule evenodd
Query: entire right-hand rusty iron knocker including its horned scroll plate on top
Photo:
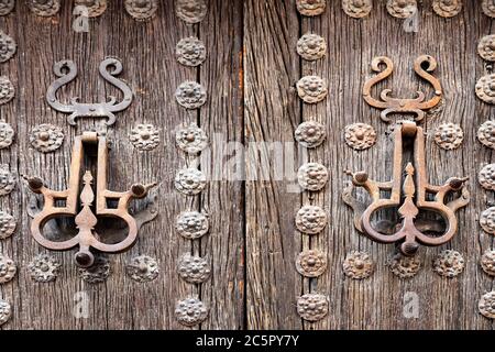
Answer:
<svg viewBox="0 0 495 352"><path fill-rule="evenodd" d="M380 65L385 65L382 70ZM392 179L380 183L371 179L365 172L351 173L352 184L342 194L343 200L354 210L354 227L372 240L382 243L402 243L400 252L414 255L419 244L429 246L441 245L452 239L458 230L455 211L465 207L470 201L470 194L464 188L468 177L451 177L443 185L435 186L428 183L425 160L425 135L417 121L425 118L425 110L436 107L442 95L440 81L430 75L437 67L433 57L421 55L415 61L415 72L430 82L435 96L425 101L426 95L418 91L416 99L399 99L391 97L391 89L384 89L377 100L371 96L371 88L378 81L388 77L393 72L393 63L388 57L375 57L372 69L377 72L376 77L367 80L363 87L364 100L372 107L383 109L381 118L389 121L391 113L411 113L415 121L398 121L394 127L394 166ZM413 162L404 164L403 144L405 140L413 142ZM403 167L405 176L403 177ZM404 182L403 182L404 179ZM371 204L359 201L352 194L354 187L362 187L371 196ZM448 195L455 194L453 198ZM384 196L386 194L386 196ZM372 218L378 211L398 208L400 223L395 227L372 224ZM420 211L432 211L441 216L444 229L438 223L431 223L418 218ZM385 222L389 222L386 220ZM391 222L392 223L392 222ZM383 223L382 223L383 224ZM440 235L430 235L429 232L440 232Z"/></svg>

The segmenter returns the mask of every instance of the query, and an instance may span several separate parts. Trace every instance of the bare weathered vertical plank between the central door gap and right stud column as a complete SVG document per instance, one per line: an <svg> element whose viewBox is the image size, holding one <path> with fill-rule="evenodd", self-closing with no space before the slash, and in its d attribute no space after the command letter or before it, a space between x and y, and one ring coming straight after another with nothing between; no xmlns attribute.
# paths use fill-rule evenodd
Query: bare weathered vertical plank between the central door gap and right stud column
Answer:
<svg viewBox="0 0 495 352"><path fill-rule="evenodd" d="M261 146L246 163L250 329L301 328L294 305L294 297L301 293L294 266L295 254L300 251L300 235L294 229L300 195L287 191L294 178L260 179L262 170L272 178L280 172L284 155L277 156L271 147L292 143L300 121L295 92L300 76L295 52L299 29L293 6L292 1L244 2L244 133L246 144ZM287 160L288 167L296 161L297 155Z"/></svg>

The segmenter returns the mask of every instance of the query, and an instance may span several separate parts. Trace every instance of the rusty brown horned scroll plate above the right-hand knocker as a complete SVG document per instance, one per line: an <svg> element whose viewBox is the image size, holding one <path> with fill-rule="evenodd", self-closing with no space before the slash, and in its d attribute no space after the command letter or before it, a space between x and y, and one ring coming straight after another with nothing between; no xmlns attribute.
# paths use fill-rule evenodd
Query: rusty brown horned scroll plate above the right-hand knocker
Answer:
<svg viewBox="0 0 495 352"><path fill-rule="evenodd" d="M384 65L385 68L381 69L381 65ZM364 84L363 97L370 106L383 109L381 114L383 121L391 121L387 117L391 113L413 113L416 116L415 121L421 121L425 118L424 110L436 107L441 100L442 87L440 86L440 81L429 74L437 68L437 61L429 55L419 56L415 61L414 66L416 74L433 86L435 96L427 101L425 101L426 95L422 91L418 91L418 97L415 99L400 99L391 97L392 89L384 89L380 94L381 100L373 98L371 95L372 87L392 75L394 64L388 57L378 56L373 58L371 67L374 72L378 73L378 75Z"/></svg>

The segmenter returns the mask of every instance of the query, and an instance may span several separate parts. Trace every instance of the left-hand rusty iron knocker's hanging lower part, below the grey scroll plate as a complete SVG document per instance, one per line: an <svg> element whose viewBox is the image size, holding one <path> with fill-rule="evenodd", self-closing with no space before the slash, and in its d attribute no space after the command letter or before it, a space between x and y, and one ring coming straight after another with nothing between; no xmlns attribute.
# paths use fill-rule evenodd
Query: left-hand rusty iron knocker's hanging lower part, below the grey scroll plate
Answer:
<svg viewBox="0 0 495 352"><path fill-rule="evenodd" d="M94 182L91 173L86 170L81 177L85 145L96 145L98 148L96 195L91 188ZM82 135L76 138L74 143L69 186L67 189L61 191L52 190L37 177L26 178L31 190L41 194L44 198L42 211L35 215L33 213L31 223L33 238L48 250L66 251L79 246L79 251L75 255L75 261L82 267L90 266L95 261L95 256L90 252L91 248L101 252L116 253L125 251L132 246L138 238L140 226L153 219L156 216L156 211L153 212L151 210L152 212L148 217L143 215L144 218L138 220L129 213L129 205L133 198L145 197L148 189L156 184L134 184L128 191L111 191L107 189L107 172L108 146L106 138L99 136L96 132L84 132ZM79 194L81 178L82 190ZM96 207L94 207L95 197ZM77 206L78 199L81 202L80 209ZM109 207L108 201L116 202L117 207ZM44 232L45 224L48 220L62 217L75 217L77 233L67 241L53 241ZM128 227L125 239L117 243L112 242L111 244L101 242L102 234L95 231L95 226L103 217L123 220ZM53 229L48 231L51 230ZM105 238L108 240L107 234Z"/></svg>

